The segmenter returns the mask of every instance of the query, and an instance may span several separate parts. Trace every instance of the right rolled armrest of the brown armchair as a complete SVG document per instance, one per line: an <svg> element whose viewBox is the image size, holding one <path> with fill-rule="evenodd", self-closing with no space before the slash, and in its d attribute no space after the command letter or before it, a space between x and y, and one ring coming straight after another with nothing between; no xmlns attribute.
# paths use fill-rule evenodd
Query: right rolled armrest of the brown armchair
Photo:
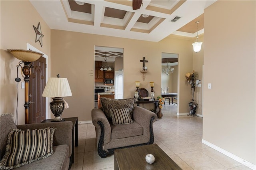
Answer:
<svg viewBox="0 0 256 170"><path fill-rule="evenodd" d="M133 109L133 119L136 121L140 126L143 127L143 134L150 138L150 127L151 121L152 123L156 121L157 115L156 113L149 111L147 109L144 109L139 106L134 106ZM153 120L151 120L153 119Z"/></svg>

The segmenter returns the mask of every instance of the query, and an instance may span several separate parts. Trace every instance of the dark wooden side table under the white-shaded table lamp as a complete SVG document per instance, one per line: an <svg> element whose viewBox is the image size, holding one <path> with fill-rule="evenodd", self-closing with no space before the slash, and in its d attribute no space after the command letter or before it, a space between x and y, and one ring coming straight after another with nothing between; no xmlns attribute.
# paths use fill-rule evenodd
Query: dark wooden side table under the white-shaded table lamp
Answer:
<svg viewBox="0 0 256 170"><path fill-rule="evenodd" d="M78 146L78 117L69 117L69 118L63 118L65 121L71 121L73 123L72 126L72 155L70 157L70 162L74 163L74 143L75 146ZM54 122L53 119L45 119L41 123L46 122ZM75 130L74 130L75 128ZM75 136L75 138L74 138Z"/></svg>

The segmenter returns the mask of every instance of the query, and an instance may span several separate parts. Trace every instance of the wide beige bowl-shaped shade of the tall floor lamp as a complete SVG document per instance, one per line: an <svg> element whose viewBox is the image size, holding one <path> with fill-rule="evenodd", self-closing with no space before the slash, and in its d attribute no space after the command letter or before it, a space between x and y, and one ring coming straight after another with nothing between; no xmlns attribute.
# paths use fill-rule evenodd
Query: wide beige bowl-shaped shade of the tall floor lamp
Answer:
<svg viewBox="0 0 256 170"><path fill-rule="evenodd" d="M14 57L21 61L36 61L38 60L42 55L42 53L31 51L31 50L25 50L25 49L7 49Z"/></svg>

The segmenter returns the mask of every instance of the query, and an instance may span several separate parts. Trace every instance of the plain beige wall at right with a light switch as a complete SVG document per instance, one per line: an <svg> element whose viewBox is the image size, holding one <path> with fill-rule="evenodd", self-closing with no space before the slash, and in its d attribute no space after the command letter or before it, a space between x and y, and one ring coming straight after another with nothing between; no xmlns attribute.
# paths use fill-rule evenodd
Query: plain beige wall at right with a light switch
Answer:
<svg viewBox="0 0 256 170"><path fill-rule="evenodd" d="M203 82L203 139L254 165L255 6L256 1L217 1L206 8Z"/></svg>

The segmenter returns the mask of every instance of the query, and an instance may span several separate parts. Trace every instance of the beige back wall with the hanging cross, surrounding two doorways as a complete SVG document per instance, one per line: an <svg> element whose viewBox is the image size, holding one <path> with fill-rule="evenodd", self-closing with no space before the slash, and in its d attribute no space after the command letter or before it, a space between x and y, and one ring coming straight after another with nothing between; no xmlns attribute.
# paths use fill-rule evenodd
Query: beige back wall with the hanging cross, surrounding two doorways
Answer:
<svg viewBox="0 0 256 170"><path fill-rule="evenodd" d="M88 41L90 40L90 41ZM94 103L94 45L118 47L124 49L124 98L133 97L135 81L140 81L140 87L150 91L150 81L155 82L155 97L161 89L161 53L179 53L180 59L180 113L188 113L187 95L190 90L185 83L185 74L192 69L192 45L190 40L166 38L161 42L147 42L109 36L51 30L51 76L60 74L67 77L73 96L66 97L69 108L63 112L63 117L78 117L78 121L91 120L91 110ZM142 79L142 62L146 57L148 73L145 81ZM151 107L152 106L147 106Z"/></svg>

